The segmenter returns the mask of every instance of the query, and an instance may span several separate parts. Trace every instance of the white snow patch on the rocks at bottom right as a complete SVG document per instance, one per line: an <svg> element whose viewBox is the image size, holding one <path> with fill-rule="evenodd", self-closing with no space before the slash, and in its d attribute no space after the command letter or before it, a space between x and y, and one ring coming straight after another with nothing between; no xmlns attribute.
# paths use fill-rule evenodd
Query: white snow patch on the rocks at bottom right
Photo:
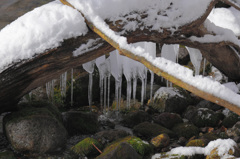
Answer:
<svg viewBox="0 0 240 159"><path fill-rule="evenodd" d="M234 152L234 147L236 147L237 144L232 139L217 139L214 141L211 141L208 143L206 147L177 147L172 149L167 154L173 155L185 155L185 156L192 156L195 154L204 154L209 155L212 150L217 148L218 155L221 158L224 158L228 155L229 150L232 150ZM161 154L155 154L152 156L152 159L157 159L160 157Z"/></svg>

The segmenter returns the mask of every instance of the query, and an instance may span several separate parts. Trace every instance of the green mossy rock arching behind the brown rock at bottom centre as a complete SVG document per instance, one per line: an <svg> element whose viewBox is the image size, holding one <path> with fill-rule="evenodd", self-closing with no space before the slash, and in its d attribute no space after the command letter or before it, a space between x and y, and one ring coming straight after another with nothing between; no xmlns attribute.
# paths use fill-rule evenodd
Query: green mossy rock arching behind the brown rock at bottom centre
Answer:
<svg viewBox="0 0 240 159"><path fill-rule="evenodd" d="M112 151L115 147L117 147L122 142L126 142L130 144L135 149L135 151L139 153L141 156L145 156L153 152L152 146L146 141L143 141L140 138L135 136L127 136L125 138L119 139L111 143L108 147L104 149L104 153L108 153L109 151Z"/></svg>

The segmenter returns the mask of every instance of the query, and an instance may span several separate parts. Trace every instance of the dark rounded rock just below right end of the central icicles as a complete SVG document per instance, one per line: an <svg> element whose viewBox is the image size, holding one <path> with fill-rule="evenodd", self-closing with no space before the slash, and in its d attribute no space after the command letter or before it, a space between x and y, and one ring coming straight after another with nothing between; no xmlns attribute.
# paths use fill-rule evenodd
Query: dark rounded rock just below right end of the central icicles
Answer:
<svg viewBox="0 0 240 159"><path fill-rule="evenodd" d="M139 123L150 121L150 120L151 120L151 116L147 112L136 111L136 112L129 113L127 114L127 116L123 117L123 120L121 121L121 123L126 127L133 128Z"/></svg>

